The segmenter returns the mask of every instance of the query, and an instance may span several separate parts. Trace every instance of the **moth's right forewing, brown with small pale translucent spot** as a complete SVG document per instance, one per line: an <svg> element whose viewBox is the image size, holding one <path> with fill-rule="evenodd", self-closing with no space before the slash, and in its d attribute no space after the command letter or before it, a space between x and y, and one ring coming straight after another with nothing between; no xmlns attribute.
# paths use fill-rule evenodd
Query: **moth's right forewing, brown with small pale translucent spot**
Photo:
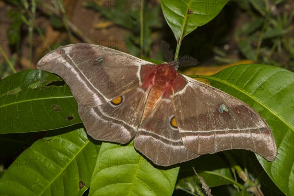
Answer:
<svg viewBox="0 0 294 196"><path fill-rule="evenodd" d="M174 95L174 111L185 147L197 154L243 148L269 161L277 154L268 124L243 101L187 76Z"/></svg>

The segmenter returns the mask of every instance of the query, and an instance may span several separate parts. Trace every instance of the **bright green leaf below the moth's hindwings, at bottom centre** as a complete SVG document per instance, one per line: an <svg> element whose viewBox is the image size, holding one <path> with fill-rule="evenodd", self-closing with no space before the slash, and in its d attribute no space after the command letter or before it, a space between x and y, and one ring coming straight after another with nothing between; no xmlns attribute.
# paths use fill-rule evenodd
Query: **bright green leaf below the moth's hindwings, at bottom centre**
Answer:
<svg viewBox="0 0 294 196"><path fill-rule="evenodd" d="M121 146L101 145L92 176L89 195L171 196L179 167L151 165L134 148L133 143Z"/></svg>

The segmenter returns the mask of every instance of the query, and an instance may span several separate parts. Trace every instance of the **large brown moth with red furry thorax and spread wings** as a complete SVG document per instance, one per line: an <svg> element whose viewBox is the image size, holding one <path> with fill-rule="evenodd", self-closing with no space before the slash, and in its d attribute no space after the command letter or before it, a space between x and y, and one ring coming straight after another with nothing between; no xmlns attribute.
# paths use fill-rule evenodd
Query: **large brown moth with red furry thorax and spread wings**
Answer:
<svg viewBox="0 0 294 196"><path fill-rule="evenodd" d="M273 161L269 125L243 101L178 73L92 44L60 47L37 68L61 76L95 140L134 147L154 164L170 166L202 154L242 148Z"/></svg>

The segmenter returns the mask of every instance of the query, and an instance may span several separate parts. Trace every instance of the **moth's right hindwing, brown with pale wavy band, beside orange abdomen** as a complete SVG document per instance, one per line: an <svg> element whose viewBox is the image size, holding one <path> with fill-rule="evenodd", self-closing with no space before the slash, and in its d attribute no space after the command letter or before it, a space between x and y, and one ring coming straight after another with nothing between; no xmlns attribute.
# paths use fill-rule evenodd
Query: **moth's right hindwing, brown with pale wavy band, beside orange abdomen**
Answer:
<svg viewBox="0 0 294 196"><path fill-rule="evenodd" d="M170 166L199 156L184 147L179 130L171 126L173 115L172 101L160 98L135 136L135 148L156 165Z"/></svg>

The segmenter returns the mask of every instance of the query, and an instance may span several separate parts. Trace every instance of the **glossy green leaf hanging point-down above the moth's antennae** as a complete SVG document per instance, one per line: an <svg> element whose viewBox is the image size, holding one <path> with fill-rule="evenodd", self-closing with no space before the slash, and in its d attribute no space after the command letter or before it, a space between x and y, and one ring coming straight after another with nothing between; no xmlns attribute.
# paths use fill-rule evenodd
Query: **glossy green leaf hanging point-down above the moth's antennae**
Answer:
<svg viewBox="0 0 294 196"><path fill-rule="evenodd" d="M164 17L178 41L216 17L228 0L161 0ZM181 36L182 35L182 36Z"/></svg>

